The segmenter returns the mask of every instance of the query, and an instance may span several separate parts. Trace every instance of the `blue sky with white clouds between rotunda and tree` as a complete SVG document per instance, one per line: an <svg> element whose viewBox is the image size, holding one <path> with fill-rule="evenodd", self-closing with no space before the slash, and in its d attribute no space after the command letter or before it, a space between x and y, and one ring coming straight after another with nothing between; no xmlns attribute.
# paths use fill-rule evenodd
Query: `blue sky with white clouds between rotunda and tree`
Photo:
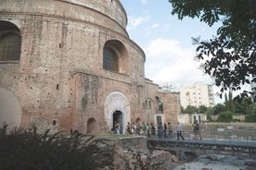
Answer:
<svg viewBox="0 0 256 170"><path fill-rule="evenodd" d="M209 27L198 19L173 16L168 0L121 0L128 16L127 31L146 54L146 78L173 87L211 84L194 60L196 46L191 37L211 39L217 27ZM214 87L215 89L215 87ZM215 91L216 92L216 91Z"/></svg>

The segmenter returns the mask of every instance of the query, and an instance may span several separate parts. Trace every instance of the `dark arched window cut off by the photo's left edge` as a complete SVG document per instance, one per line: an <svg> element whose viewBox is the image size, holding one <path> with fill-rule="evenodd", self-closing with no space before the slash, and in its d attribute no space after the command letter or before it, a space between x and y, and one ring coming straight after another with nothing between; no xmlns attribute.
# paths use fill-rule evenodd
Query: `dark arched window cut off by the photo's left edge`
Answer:
<svg viewBox="0 0 256 170"><path fill-rule="evenodd" d="M12 23L0 21L0 62L19 61L21 38Z"/></svg>

